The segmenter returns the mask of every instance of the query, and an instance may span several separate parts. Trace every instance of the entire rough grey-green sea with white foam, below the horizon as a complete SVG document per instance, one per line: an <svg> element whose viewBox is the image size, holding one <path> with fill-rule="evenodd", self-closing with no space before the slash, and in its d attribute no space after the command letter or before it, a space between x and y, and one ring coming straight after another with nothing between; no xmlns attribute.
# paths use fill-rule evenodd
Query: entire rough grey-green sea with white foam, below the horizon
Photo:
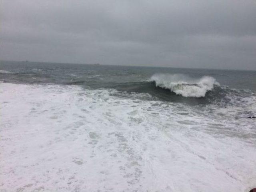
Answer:
<svg viewBox="0 0 256 192"><path fill-rule="evenodd" d="M256 71L0 62L1 192L247 192Z"/></svg>

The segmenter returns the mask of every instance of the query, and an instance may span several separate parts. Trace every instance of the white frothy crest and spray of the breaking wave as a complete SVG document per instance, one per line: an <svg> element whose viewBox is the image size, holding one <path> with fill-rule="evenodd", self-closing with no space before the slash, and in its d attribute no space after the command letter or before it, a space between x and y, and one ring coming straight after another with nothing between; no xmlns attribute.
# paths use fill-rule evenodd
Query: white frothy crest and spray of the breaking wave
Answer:
<svg viewBox="0 0 256 192"><path fill-rule="evenodd" d="M170 89L184 97L204 97L207 91L214 88L214 85L219 85L210 76L193 79L183 74L154 74L151 80L156 82L156 86Z"/></svg>

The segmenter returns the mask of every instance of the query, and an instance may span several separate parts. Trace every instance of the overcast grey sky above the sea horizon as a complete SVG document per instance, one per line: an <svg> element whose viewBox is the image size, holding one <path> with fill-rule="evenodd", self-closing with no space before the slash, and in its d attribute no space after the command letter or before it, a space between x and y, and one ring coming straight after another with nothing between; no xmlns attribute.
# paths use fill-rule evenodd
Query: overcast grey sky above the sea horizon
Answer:
<svg viewBox="0 0 256 192"><path fill-rule="evenodd" d="M2 0L0 59L256 70L256 0Z"/></svg>

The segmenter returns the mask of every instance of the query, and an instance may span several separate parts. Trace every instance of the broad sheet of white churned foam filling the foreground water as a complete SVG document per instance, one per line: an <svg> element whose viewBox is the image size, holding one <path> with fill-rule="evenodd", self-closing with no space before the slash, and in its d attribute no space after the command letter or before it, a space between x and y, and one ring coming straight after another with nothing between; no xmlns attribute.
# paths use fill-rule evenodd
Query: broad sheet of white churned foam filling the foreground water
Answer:
<svg viewBox="0 0 256 192"><path fill-rule="evenodd" d="M242 109L197 109L114 92L1 83L0 190L256 187L256 121L235 120Z"/></svg>

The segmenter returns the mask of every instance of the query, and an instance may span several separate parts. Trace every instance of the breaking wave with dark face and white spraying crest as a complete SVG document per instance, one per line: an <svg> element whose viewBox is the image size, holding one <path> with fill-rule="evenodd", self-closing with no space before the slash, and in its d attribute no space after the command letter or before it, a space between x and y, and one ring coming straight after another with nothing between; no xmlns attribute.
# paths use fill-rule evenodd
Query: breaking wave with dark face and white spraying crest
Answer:
<svg viewBox="0 0 256 192"><path fill-rule="evenodd" d="M126 92L148 93L168 101L208 102L209 96L218 98L220 84L211 76L191 78L184 74L154 74L149 81L126 82L113 86ZM212 98L210 99L212 100Z"/></svg>

